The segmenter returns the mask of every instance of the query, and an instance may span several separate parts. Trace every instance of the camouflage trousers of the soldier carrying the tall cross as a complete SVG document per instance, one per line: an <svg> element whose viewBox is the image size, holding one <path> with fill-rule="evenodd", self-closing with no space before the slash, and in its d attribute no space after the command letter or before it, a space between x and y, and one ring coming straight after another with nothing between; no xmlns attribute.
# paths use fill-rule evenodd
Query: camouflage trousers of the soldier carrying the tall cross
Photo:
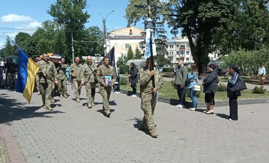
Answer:
<svg viewBox="0 0 269 163"><path fill-rule="evenodd" d="M156 106L157 95L151 97L141 97L141 109L144 112L144 117L141 127L148 128L150 132L155 132L155 123L153 120L154 109Z"/></svg>

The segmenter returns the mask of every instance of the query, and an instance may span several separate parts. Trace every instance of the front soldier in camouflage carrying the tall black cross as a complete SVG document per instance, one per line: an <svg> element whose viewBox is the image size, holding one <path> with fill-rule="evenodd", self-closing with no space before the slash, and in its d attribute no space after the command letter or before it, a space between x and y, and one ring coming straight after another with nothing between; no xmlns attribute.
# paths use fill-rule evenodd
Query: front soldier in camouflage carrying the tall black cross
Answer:
<svg viewBox="0 0 269 163"><path fill-rule="evenodd" d="M155 88L152 87L152 76L155 78ZM152 137L158 136L155 130L153 120L154 109L156 105L156 92L162 88L164 83L158 70L151 70L151 58L147 58L146 67L139 70L138 80L140 83L141 109L144 112L143 121L140 128L150 131Z"/></svg>

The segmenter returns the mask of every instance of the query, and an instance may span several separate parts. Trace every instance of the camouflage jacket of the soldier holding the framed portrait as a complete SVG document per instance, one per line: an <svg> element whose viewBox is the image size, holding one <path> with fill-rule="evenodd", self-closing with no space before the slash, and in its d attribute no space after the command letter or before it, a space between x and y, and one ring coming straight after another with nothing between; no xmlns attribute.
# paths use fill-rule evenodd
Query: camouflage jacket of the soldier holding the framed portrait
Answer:
<svg viewBox="0 0 269 163"><path fill-rule="evenodd" d="M112 76L112 83L114 84L116 81L116 73L114 67L111 65L101 65L98 67L96 72L96 79L100 83L101 87L104 87L104 75L111 75Z"/></svg>

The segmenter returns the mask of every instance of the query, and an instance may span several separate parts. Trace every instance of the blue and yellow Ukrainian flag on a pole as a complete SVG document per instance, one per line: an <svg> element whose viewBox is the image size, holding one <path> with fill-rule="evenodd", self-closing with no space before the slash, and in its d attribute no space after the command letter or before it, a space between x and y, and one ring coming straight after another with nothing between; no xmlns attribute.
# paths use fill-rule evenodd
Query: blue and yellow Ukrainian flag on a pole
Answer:
<svg viewBox="0 0 269 163"><path fill-rule="evenodd" d="M39 66L19 47L18 59L18 79L16 84L16 92L23 93L28 103L31 102L34 81Z"/></svg>

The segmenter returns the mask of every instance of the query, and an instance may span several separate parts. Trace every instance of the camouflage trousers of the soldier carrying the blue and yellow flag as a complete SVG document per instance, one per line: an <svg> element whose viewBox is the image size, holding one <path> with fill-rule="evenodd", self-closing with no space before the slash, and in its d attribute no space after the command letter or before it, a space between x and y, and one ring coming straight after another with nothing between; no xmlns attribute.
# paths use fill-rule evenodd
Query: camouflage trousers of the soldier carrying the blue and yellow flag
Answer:
<svg viewBox="0 0 269 163"><path fill-rule="evenodd" d="M50 107L51 106L51 90L52 90L52 83L51 81L48 81L48 83L40 83L40 91L41 91L41 97L42 97L42 102L44 106Z"/></svg>

